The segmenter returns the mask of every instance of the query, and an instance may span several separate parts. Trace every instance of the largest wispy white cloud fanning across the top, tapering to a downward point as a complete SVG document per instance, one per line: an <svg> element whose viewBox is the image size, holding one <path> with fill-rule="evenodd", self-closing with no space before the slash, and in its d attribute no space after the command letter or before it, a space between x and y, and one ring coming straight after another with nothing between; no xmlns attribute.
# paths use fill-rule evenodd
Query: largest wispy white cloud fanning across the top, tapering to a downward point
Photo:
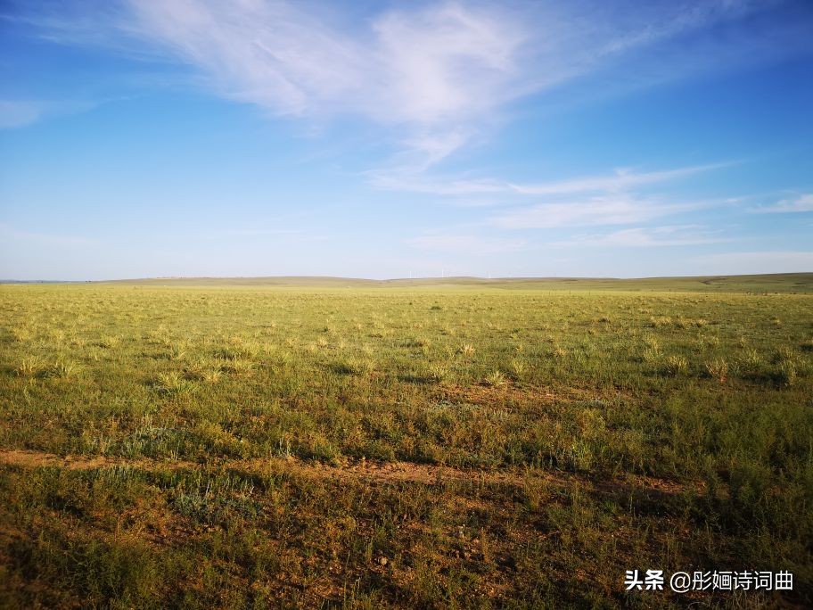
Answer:
<svg viewBox="0 0 813 610"><path fill-rule="evenodd" d="M450 0L390 5L356 21L330 3L290 0L119 0L84 11L82 3L53 6L13 19L55 42L128 47L139 59L184 63L218 95L276 115L373 120L392 128L392 141L417 157L404 167L422 170L499 121L506 104L522 96L761 5L697 0L611 9L594 2ZM739 48L756 38L727 44ZM704 53L700 46L694 54ZM680 62L700 63L688 55ZM706 64L713 63L710 55L702 55ZM628 70L625 80L638 73L645 70ZM676 62L669 74L679 73ZM663 79L662 70L653 78Z"/></svg>

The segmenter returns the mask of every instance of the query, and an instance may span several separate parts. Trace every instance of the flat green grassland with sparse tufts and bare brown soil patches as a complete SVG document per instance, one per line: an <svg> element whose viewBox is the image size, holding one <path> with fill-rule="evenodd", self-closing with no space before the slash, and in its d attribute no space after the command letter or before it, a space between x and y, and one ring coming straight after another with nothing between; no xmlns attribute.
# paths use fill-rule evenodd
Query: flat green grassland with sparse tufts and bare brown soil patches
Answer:
<svg viewBox="0 0 813 610"><path fill-rule="evenodd" d="M0 312L0 606L813 604L811 274L6 284Z"/></svg>

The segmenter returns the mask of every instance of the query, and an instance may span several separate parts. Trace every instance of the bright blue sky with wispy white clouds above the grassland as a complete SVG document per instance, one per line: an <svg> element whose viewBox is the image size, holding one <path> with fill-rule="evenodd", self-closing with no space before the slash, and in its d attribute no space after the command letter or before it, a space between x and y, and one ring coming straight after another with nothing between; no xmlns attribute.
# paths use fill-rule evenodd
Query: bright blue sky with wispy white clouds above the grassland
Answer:
<svg viewBox="0 0 813 610"><path fill-rule="evenodd" d="M809 0L0 0L0 278L798 271Z"/></svg>

